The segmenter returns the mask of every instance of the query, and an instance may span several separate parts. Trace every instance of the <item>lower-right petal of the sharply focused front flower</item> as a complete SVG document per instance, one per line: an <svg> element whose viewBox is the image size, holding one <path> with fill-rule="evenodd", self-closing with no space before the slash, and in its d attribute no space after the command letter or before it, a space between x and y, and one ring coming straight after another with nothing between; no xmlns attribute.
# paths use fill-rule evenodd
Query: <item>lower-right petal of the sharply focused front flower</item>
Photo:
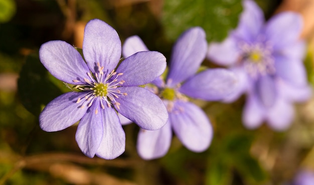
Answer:
<svg viewBox="0 0 314 185"><path fill-rule="evenodd" d="M121 95L116 99L120 105L117 111L138 124L141 128L155 130L163 127L168 120L168 112L164 102L149 90L137 87L118 87Z"/></svg>

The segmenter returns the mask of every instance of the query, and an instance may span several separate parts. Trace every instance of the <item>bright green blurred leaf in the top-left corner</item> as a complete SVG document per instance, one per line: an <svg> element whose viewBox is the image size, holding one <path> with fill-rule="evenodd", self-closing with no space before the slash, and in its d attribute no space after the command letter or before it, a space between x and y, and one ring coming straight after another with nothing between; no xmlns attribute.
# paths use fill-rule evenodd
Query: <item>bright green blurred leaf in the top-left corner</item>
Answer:
<svg viewBox="0 0 314 185"><path fill-rule="evenodd" d="M0 0L0 22L6 22L16 12L16 4L14 0Z"/></svg>

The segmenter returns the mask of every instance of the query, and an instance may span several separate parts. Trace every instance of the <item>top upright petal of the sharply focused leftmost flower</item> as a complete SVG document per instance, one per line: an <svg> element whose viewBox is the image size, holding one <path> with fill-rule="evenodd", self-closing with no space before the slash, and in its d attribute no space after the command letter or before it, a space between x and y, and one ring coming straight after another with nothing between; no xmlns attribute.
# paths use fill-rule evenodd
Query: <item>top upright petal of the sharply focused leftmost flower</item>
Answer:
<svg viewBox="0 0 314 185"><path fill-rule="evenodd" d="M84 30L83 54L92 72L97 71L97 62L109 72L112 71L121 57L118 33L102 20L90 20Z"/></svg>

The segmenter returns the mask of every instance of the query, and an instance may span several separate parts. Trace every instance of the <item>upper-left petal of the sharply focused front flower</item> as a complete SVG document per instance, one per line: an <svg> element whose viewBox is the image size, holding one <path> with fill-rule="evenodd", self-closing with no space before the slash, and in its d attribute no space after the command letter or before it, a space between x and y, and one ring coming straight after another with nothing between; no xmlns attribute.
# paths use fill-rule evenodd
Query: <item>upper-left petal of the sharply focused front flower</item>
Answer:
<svg viewBox="0 0 314 185"><path fill-rule="evenodd" d="M73 80L88 78L89 68L81 54L65 41L52 40L42 44L39 58L49 72L61 81L79 84Z"/></svg>

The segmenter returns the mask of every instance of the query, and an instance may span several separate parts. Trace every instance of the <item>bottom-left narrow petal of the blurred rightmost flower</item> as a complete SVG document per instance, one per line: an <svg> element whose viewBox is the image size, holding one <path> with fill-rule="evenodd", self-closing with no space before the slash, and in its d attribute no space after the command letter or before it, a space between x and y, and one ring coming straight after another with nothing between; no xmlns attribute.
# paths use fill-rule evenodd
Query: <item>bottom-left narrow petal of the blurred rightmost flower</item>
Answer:
<svg viewBox="0 0 314 185"><path fill-rule="evenodd" d="M243 124L248 129L260 126L265 118L264 107L253 93L249 93L243 109Z"/></svg>

